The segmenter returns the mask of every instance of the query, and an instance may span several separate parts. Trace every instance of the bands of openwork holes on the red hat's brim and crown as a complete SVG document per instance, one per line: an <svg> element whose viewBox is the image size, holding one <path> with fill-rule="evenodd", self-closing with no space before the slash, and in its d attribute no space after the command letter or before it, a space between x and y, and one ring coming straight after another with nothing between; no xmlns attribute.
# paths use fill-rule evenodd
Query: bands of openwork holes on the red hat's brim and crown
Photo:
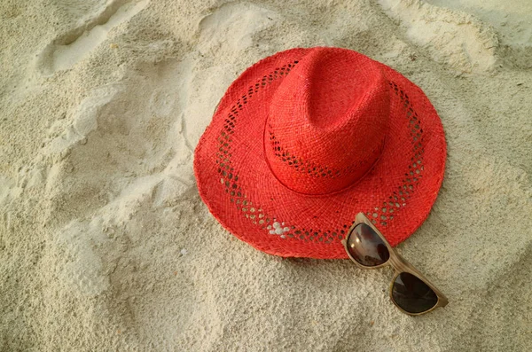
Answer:
<svg viewBox="0 0 532 352"><path fill-rule="evenodd" d="M255 83L254 87L250 87L247 90L247 95L242 96L237 100L235 105L231 108L231 113L228 114L228 118L225 120L226 124L223 126L223 130L220 132L218 138L220 149L216 154L216 163L219 164L218 173L222 176L220 183L224 187L224 191L228 193L231 203L242 212L242 214L249 219L255 225L261 226L262 230L268 231L270 235L278 235L281 239L301 239L304 241L317 241L324 244L332 243L336 239L343 239L346 235L346 231L352 223L345 223L339 228L335 229L312 229L301 226L288 225L285 222L279 223L278 219L274 215L265 215L262 208L258 205L254 205L252 200L248 200L246 192L242 190L239 185L239 176L233 175L235 171L231 167L231 137L234 132L235 122L239 116L239 111L244 109L244 105L247 104L247 99L252 98L253 93L257 93L261 87L264 87L267 82L271 82L279 78L280 73L288 74L291 67L296 65L297 61L293 64L287 64L281 66L278 70L275 70L272 74L264 75L261 82ZM262 84L263 83L263 84ZM397 190L388 197L388 201L382 203L381 207L373 207L371 210L366 211L365 214L371 219L373 224L379 226L387 226L389 220L394 219L394 213L401 207L406 206L406 202L411 198L412 193L415 191L415 185L422 177L423 165L423 129L420 126L420 120L418 113L414 110L408 95L399 87L395 82L388 82L390 90L393 94L401 99L404 108L404 117L408 119L411 127L410 136L413 150L416 151L415 155L411 157L411 165L409 170L404 174L403 183L398 186ZM336 170L334 173L328 168L317 167L315 165L298 160L297 157L290 155L288 152L284 152L279 147L275 137L270 133L270 143L273 148L276 148L278 157L283 158L283 161L293 165L294 168L300 168L302 172L313 173L314 176L329 176L334 177L341 171ZM299 164L298 164L299 163ZM346 169L348 170L348 169ZM344 172L346 170L343 170Z"/></svg>

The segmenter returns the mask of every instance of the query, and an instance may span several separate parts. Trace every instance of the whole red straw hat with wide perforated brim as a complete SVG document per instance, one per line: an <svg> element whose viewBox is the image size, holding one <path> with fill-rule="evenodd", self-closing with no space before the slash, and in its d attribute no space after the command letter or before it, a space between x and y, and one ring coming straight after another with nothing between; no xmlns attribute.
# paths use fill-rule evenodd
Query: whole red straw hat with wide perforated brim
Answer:
<svg viewBox="0 0 532 352"><path fill-rule="evenodd" d="M281 51L226 91L195 151L210 212L269 254L347 258L364 212L392 246L442 185L442 121L392 68L347 49Z"/></svg>

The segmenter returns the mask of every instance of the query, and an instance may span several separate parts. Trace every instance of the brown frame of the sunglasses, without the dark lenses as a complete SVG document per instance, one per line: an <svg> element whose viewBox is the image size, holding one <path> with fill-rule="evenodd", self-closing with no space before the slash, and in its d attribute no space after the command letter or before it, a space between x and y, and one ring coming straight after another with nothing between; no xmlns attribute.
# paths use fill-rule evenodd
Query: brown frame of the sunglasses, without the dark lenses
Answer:
<svg viewBox="0 0 532 352"><path fill-rule="evenodd" d="M366 225L370 226L373 229L373 231L375 231L379 235L380 239L383 240L384 244L387 246L388 252L390 253L390 257L389 257L389 259L386 262L384 262L384 263L382 263L380 265L372 266L372 267L364 266L361 263L356 262L355 258L353 258L351 256L351 254L348 251L348 239L349 239L349 236L351 236L351 233L353 232L353 230L355 230L356 226L359 225L360 223L365 223ZM351 261L355 262L355 264L358 267L360 267L360 268L363 268L363 269L379 269L379 268L383 268L383 267L386 267L386 266L389 266L389 265L391 265L394 268L395 275L394 275L394 278L392 278L392 282L390 283L390 287L389 287L390 300L392 302L394 302L395 306L399 310L401 310L404 314L408 314L409 316L420 316L422 314L426 314L426 313L428 313L430 311L433 311L434 309L436 309L438 307L445 307L447 305L447 303L449 303L449 301L447 300L447 297L445 297L445 295L440 290L438 290L433 284L431 284L430 281L428 281L428 279L426 279L423 276L423 274L421 274L419 272L419 270L414 268L411 265L410 262L407 262L400 254L398 254L395 251L395 249L392 246L390 246L390 244L388 243L387 239L382 235L382 233L380 233L379 229L377 229L375 227L375 225L373 225L372 221L370 219L368 219L364 215L364 213L358 213L356 215L355 223L353 223L351 225L351 227L349 228L349 231L348 231L348 235L346 236L345 239L341 240L341 243L344 245L344 247L346 249L346 253L348 254L348 256L351 259ZM433 308L427 309L427 310L425 310L423 312L420 312L420 313L410 313L410 312L402 309L401 307L399 307L399 305L394 301L394 297L392 296L392 289L394 287L395 278L397 278L399 276L399 274L401 274L402 272L408 272L411 275L419 278L427 286L429 286L434 291L434 293L436 293L436 296L438 296L438 301L436 302L436 304L434 304Z"/></svg>

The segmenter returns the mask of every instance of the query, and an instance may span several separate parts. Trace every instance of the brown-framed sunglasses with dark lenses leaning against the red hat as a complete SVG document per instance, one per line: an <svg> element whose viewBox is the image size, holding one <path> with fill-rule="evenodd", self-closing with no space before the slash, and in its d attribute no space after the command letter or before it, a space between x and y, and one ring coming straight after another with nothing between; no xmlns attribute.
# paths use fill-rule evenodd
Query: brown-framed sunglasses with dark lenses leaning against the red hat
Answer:
<svg viewBox="0 0 532 352"><path fill-rule="evenodd" d="M348 236L341 242L349 258L361 268L377 269L387 265L394 267L390 298L403 313L419 316L438 307L445 307L449 302L411 263L395 252L363 213L356 215Z"/></svg>

